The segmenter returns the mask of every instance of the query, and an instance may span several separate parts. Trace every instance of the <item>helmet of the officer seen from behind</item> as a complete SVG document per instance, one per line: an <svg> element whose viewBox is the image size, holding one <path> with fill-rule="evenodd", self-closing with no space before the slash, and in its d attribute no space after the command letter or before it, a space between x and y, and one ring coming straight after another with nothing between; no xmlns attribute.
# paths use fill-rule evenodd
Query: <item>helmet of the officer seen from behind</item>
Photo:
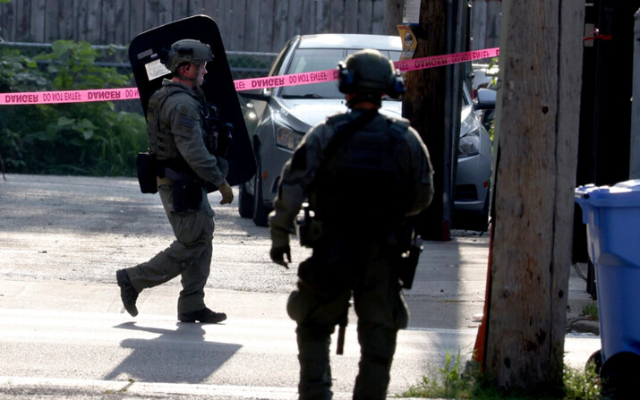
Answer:
<svg viewBox="0 0 640 400"><path fill-rule="evenodd" d="M380 97L399 98L405 85L393 63L378 50L365 48L338 63L338 90Z"/></svg>

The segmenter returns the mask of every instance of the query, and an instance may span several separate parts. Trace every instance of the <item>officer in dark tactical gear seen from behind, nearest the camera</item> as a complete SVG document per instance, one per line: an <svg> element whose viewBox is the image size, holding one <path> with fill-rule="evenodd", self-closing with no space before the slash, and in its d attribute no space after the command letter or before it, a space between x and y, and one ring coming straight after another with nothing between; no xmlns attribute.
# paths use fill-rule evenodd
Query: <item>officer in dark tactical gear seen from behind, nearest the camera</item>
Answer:
<svg viewBox="0 0 640 400"><path fill-rule="evenodd" d="M431 203L433 170L408 121L378 113L384 95L404 92L388 58L365 49L338 70L350 110L312 127L286 162L269 217L270 257L291 262L289 232L308 202L313 251L287 302L297 323L299 398L331 398L330 335L353 295L361 346L354 399L384 399L397 330L408 322L400 255L413 237L408 219Z"/></svg>

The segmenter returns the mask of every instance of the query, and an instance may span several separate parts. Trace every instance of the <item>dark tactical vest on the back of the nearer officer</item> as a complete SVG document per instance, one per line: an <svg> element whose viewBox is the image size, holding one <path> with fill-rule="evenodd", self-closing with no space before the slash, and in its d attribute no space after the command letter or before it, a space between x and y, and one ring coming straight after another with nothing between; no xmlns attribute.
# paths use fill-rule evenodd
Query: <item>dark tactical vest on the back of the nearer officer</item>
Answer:
<svg viewBox="0 0 640 400"><path fill-rule="evenodd" d="M385 120L382 129L355 132L325 160L311 195L323 229L341 235L386 235L404 220L408 193L399 151L409 125ZM336 115L327 123L337 132L348 119Z"/></svg>

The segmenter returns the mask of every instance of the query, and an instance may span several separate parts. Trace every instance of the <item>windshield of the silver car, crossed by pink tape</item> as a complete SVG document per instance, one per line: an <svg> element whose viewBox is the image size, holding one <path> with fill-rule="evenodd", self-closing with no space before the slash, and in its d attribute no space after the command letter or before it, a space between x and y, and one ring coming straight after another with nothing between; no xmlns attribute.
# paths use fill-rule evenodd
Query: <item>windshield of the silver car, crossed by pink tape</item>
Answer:
<svg viewBox="0 0 640 400"><path fill-rule="evenodd" d="M286 74L333 70L337 63L358 49L346 48L299 48L289 64ZM400 51L381 50L391 61L400 58ZM282 98L338 98L345 95L337 90L337 81L286 86L280 91ZM386 98L387 99L387 98ZM388 98L390 99L390 98Z"/></svg>

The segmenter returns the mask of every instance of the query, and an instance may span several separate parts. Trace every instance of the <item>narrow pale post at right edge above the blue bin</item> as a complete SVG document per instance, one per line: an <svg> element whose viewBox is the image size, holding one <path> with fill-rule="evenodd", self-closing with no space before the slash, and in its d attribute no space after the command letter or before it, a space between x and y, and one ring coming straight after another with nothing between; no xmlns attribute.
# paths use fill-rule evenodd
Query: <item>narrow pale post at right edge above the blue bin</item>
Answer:
<svg viewBox="0 0 640 400"><path fill-rule="evenodd" d="M629 179L640 179L640 9L634 14L634 72L631 104Z"/></svg>

